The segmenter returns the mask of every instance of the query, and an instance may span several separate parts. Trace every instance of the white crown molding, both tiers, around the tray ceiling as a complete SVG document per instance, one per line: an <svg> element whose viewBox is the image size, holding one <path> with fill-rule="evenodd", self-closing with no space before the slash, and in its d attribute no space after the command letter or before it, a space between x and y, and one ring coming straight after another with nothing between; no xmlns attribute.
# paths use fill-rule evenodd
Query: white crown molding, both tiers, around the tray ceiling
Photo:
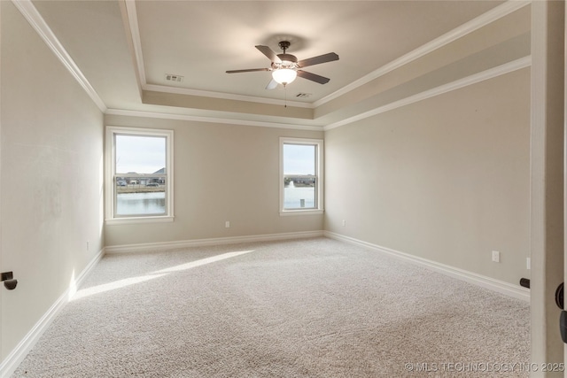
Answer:
<svg viewBox="0 0 567 378"><path fill-rule="evenodd" d="M442 93L446 93L447 91L459 89L464 86L474 84L475 82L487 80L490 79L491 77L495 77L504 73L509 73L517 69L523 68L524 66L531 65L530 57L517 59L516 61L495 67L483 73L477 73L469 77L463 78L462 80L454 81L452 83L448 83L446 85L437 87L435 89L424 91L414 96L408 96L407 98L392 102L391 104L380 106L369 112L363 112L346 120L341 120L335 123L331 123L326 127L294 125L289 123L277 123L277 122L257 121L257 120L233 120L229 118L200 117L200 116L190 116L190 115L174 114L174 113L138 112L138 111L108 109L105 103L103 102L103 100L98 96L97 91L90 85L87 78L83 75L79 67L74 63L73 58L71 58L70 55L66 52L65 48L58 41L58 38L53 34L50 27L44 21L40 13L35 9L35 6L31 2L31 0L12 0L12 4L14 4L16 8L19 10L19 12L21 12L21 14L24 16L24 18L27 19L27 21L35 29L37 34L40 35L40 37L42 37L43 41L48 45L50 50L53 51L53 53L63 63L63 65L66 67L69 73L73 75L74 79L87 92L87 94L90 96L92 101L95 104L97 104L97 107L100 109L100 111L110 115L128 115L135 117L149 117L149 118L170 119L170 120L192 120L192 121L208 122L208 123L223 123L223 124L247 125L247 126L256 126L256 127L278 127L278 128L291 128L291 129L315 130L315 131L330 130L335 127L347 125L357 120L363 120L365 118L371 117L381 112L387 112L389 110L398 108L400 106L404 106L406 104L412 104L417 101L421 101L425 98L429 98L431 96L438 96ZM138 73L139 73L138 79L141 81L140 85L141 88L143 88L144 90L154 90L159 92L168 92L168 93L183 94L190 96L208 96L214 98L224 98L227 100L237 100L237 101L255 102L255 103L263 103L263 104L282 104L282 101L277 99L268 99L262 97L254 97L254 96L231 95L220 92L203 91L198 89L182 89L175 87L151 85L145 83L144 59L142 55L140 36L138 33L136 3L135 0L124 0L124 4L126 5L126 9L128 13L128 24L129 24L128 27L130 33L132 34L132 42L134 44L134 51L136 54L135 57L136 66L138 68ZM526 1L509 0L506 3L495 7L493 10L489 12L485 12L484 14L478 16L478 18L472 19L469 22L463 24L462 26L454 28L454 30L448 32L447 34L441 35L439 38L431 42L425 43L423 46L417 48L416 50L413 50L408 54L396 60L393 60L391 63L378 68L373 73L369 73L368 75L362 77L358 81L353 81L353 83L347 85L346 87L343 87L342 89L339 89L330 96L326 96L321 100L315 101L314 103L288 102L288 104L291 104L291 106L296 106L296 107L316 108L317 106L325 104L331 101L332 99L337 98L338 96L343 96L347 92L356 89L361 85L368 83L369 81L375 80L381 75L384 75L385 73L391 72L392 70L400 66L404 66L416 60L417 58L423 57L424 55L430 53L431 51L439 49L440 47L447 45L447 43L453 42L464 35L470 34L471 32L478 30L478 28L484 27L485 25L488 25L497 19L501 19L502 17L505 17L506 15L515 12L529 4L532 4L531 0L526 0Z"/></svg>

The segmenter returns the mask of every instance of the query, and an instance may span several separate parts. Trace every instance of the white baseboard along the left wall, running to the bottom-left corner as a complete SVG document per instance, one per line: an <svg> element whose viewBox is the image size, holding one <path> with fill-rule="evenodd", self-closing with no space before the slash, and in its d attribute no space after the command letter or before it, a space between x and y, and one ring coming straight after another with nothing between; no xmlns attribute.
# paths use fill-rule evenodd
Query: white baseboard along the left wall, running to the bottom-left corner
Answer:
<svg viewBox="0 0 567 378"><path fill-rule="evenodd" d="M13 374L13 372L18 368L19 364L23 359L26 358L27 353L31 351L37 340L43 335L43 332L49 328L51 322L56 318L58 313L65 307L69 298L73 296L75 288L81 286L81 283L89 275L90 271L97 266L98 261L105 255L105 249L99 251L97 256L89 261L89 264L85 266L81 274L77 276L74 282L69 284L69 287L65 292L58 297L50 309L43 314L43 317L35 323L34 328L32 328L27 335L16 345L13 351L2 361L0 364L0 377L7 378Z"/></svg>

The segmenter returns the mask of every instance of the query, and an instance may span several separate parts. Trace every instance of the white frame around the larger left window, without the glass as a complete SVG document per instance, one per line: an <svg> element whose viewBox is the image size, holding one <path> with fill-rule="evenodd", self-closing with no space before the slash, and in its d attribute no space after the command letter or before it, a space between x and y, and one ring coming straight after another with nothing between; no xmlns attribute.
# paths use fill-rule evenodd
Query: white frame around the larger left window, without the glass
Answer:
<svg viewBox="0 0 567 378"><path fill-rule="evenodd" d="M132 215L117 217L116 201L116 147L114 135L160 136L166 138L166 213L164 215ZM106 224L171 222L174 220L174 131L137 127L106 127L105 138L105 222Z"/></svg>

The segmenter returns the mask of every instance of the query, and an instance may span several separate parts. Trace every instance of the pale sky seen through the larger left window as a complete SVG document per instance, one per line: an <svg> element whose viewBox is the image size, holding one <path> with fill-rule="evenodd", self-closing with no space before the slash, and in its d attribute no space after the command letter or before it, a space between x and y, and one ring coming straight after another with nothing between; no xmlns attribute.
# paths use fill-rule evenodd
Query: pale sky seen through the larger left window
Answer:
<svg viewBox="0 0 567 378"><path fill-rule="evenodd" d="M116 173L154 174L166 166L166 137L116 135Z"/></svg>

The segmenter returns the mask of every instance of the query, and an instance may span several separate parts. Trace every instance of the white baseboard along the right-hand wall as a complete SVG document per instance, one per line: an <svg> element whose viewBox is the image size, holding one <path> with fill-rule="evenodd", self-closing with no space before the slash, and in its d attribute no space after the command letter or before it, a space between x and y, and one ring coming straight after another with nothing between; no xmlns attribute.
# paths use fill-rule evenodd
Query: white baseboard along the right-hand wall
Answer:
<svg viewBox="0 0 567 378"><path fill-rule="evenodd" d="M395 257L395 258L401 258L401 259L404 259L406 261L410 261L412 263L418 264L420 266L424 266L426 268L429 268L429 269L434 270L436 272L439 272L441 274L447 274L447 275L454 277L456 279L459 279L459 280L462 280L462 281L465 281L465 282L470 282L472 284L481 286L485 289L491 289L493 291L499 292L499 293L504 294L504 295L509 296L509 297L515 297L515 298L518 298L518 299L522 299L526 302L530 301L530 290L525 289L525 288L523 288L519 285L512 285L508 282L503 282L503 281L500 281L500 280L494 280L493 278L487 277L487 276L482 275L482 274L476 274L476 273L468 272L468 271L460 269L458 267L441 264L441 263L429 260L427 258L419 258L417 256L410 255L408 253L395 251L395 250L392 250L390 248L385 248L385 247L379 246L377 244L363 242L361 240L354 239L353 237L336 234L334 232L324 231L323 235L325 237L340 240L340 241L343 241L343 242L346 242L346 243L361 245L363 247L367 247L367 248L370 248L372 250L379 251L381 253L385 253L385 254L390 255L392 257Z"/></svg>

